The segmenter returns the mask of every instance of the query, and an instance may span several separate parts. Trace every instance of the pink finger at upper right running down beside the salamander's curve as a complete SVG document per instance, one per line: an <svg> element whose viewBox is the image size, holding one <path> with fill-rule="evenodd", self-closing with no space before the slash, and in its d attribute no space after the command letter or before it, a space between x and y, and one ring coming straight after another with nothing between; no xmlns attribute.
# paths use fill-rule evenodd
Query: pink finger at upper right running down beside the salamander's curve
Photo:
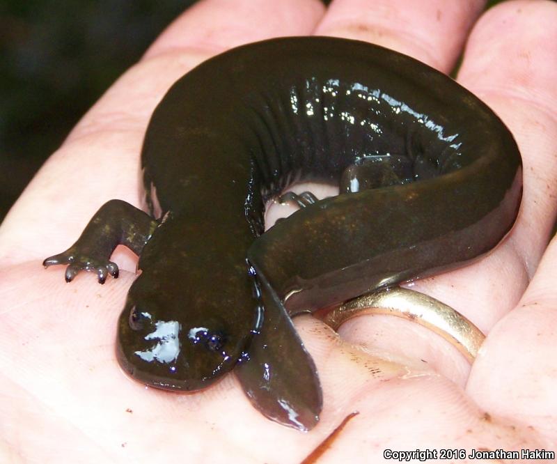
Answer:
<svg viewBox="0 0 557 464"><path fill-rule="evenodd" d="M518 302L554 222L555 8L549 1L511 1L489 10L471 33L458 76L508 125L524 164L521 210L508 240L478 266L450 275L464 289L466 300L450 288L434 288L434 297L462 309L484 331Z"/></svg>

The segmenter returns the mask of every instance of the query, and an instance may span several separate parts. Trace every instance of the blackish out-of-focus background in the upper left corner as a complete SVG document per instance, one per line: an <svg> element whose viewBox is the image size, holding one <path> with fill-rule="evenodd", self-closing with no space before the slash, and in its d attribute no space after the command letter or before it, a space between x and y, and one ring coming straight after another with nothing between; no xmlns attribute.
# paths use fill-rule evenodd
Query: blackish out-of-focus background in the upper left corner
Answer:
<svg viewBox="0 0 557 464"><path fill-rule="evenodd" d="M0 222L85 111L192 3L1 0Z"/></svg>

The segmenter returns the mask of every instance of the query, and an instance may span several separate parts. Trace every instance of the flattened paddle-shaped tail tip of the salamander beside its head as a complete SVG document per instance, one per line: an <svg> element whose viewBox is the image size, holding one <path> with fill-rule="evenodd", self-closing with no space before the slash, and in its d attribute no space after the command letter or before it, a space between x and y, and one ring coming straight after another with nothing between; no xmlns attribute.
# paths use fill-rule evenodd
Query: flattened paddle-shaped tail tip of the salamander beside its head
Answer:
<svg viewBox="0 0 557 464"><path fill-rule="evenodd" d="M265 305L261 330L249 359L235 369L252 405L269 419L309 431L319 421L323 398L317 369L283 303L265 277L258 276Z"/></svg>

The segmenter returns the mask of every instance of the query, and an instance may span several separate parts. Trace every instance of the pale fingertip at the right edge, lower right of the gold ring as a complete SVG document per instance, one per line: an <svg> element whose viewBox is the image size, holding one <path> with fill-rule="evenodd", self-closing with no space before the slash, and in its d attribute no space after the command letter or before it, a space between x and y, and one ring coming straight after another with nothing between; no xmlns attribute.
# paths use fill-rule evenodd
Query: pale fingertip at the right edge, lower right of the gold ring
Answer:
<svg viewBox="0 0 557 464"><path fill-rule="evenodd" d="M553 441L557 439L556 273L554 239L517 309L489 334L466 386L480 407L516 417Z"/></svg>

